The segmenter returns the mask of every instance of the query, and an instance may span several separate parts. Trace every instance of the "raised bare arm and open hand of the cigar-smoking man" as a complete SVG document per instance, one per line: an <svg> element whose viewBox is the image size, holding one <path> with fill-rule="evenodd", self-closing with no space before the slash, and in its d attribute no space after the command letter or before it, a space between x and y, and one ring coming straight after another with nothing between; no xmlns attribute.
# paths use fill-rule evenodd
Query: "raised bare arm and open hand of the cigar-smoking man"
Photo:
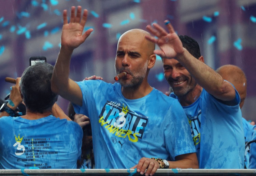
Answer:
<svg viewBox="0 0 256 176"><path fill-rule="evenodd" d="M93 29L88 29L84 34L84 26L87 21L87 10L83 11L82 7L77 6L75 15L75 6L71 7L70 22L68 23L67 10L63 11L63 27L61 33L60 52L54 66L51 80L51 89L63 98L82 106L82 92L80 87L69 79L70 60L73 50L84 43Z"/></svg>

